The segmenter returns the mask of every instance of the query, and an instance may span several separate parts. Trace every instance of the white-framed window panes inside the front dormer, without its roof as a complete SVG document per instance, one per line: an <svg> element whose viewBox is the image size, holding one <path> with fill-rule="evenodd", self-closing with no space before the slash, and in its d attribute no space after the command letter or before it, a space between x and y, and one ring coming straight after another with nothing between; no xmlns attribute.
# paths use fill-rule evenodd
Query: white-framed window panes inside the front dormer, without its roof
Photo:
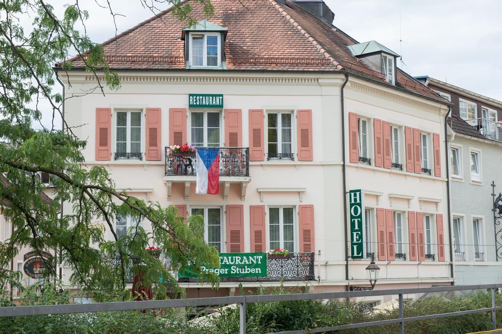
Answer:
<svg viewBox="0 0 502 334"><path fill-rule="evenodd" d="M220 34L190 34L191 66L220 66Z"/></svg>

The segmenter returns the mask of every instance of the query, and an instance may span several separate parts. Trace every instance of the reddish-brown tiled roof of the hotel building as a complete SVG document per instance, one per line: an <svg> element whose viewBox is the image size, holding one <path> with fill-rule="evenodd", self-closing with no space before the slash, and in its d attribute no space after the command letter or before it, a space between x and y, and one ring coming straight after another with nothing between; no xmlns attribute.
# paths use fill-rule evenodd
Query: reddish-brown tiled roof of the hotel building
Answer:
<svg viewBox="0 0 502 334"><path fill-rule="evenodd" d="M348 46L357 41L290 0L285 4L274 0L212 0L211 3L214 6L211 18L205 17L203 6L197 2L191 4L191 17L207 19L227 29L224 50L229 70L346 70L388 84L382 73L351 54ZM186 25L170 11L102 43L110 68L184 69L181 36ZM74 68L85 67L80 57L71 61ZM399 69L396 86L447 103Z"/></svg>

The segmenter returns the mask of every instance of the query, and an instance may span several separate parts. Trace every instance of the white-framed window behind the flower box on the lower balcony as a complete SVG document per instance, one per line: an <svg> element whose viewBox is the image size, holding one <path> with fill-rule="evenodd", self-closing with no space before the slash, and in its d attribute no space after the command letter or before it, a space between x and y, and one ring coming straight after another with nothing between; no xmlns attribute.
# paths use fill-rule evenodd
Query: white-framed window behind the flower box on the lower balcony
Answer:
<svg viewBox="0 0 502 334"><path fill-rule="evenodd" d="M295 208L269 207L270 249L284 248L295 252Z"/></svg>

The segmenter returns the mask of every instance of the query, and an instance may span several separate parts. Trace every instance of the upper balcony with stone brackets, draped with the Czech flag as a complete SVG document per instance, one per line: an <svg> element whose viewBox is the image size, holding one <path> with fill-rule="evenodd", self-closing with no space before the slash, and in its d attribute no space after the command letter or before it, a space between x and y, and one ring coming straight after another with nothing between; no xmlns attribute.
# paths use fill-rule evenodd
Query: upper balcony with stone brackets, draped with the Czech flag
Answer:
<svg viewBox="0 0 502 334"><path fill-rule="evenodd" d="M230 183L241 184L241 199L245 199L246 187L249 181L249 148L248 147L211 147L219 149L219 181L223 183L223 200L228 197ZM165 176L168 200L171 199L172 184L184 183L185 200L190 197L190 186L196 182L196 153L172 153L165 148Z"/></svg>

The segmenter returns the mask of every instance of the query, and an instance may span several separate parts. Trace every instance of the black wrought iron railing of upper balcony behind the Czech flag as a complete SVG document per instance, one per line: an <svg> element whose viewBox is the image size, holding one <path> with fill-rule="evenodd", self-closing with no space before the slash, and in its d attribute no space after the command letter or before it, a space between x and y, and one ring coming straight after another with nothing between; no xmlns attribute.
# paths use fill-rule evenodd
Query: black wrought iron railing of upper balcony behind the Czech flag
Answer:
<svg viewBox="0 0 502 334"><path fill-rule="evenodd" d="M249 176L248 147L211 147L219 149L220 176ZM194 153L171 153L166 147L165 175L197 175Z"/></svg>

